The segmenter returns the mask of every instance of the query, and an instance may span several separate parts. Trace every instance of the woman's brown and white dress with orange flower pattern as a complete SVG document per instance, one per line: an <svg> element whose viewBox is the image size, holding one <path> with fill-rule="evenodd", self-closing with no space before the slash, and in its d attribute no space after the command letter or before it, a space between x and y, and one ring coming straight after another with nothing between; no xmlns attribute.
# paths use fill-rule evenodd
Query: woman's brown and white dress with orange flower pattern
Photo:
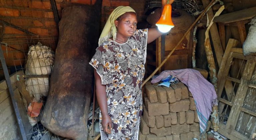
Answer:
<svg viewBox="0 0 256 140"><path fill-rule="evenodd" d="M145 73L147 29L136 30L126 43L104 41L89 62L106 85L111 134L103 131L102 140L138 140L142 113L141 84Z"/></svg>

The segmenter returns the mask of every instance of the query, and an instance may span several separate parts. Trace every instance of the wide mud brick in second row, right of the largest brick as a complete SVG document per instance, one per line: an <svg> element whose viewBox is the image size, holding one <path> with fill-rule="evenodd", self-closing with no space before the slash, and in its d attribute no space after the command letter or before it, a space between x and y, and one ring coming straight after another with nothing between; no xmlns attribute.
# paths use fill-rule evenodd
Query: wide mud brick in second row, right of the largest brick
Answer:
<svg viewBox="0 0 256 140"><path fill-rule="evenodd" d="M175 103L169 104L170 112L182 112L188 111L190 101L188 99L177 101Z"/></svg>

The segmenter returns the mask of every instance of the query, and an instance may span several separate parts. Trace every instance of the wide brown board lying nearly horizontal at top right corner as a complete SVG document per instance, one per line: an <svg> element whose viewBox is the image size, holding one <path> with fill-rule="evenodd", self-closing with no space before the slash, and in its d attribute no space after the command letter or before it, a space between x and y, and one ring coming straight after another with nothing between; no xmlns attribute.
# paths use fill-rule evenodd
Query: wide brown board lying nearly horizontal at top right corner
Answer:
<svg viewBox="0 0 256 140"><path fill-rule="evenodd" d="M256 16L256 7L220 15L216 17L213 21L217 23L231 23L231 22L237 22L242 20L247 20L254 18Z"/></svg>

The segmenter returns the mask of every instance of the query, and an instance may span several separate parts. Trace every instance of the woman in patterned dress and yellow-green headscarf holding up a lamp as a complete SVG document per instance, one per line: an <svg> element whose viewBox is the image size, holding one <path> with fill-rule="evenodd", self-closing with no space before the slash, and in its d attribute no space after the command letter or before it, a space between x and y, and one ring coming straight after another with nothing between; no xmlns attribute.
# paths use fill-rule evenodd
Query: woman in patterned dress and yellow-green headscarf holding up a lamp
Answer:
<svg viewBox="0 0 256 140"><path fill-rule="evenodd" d="M136 13L129 6L110 14L90 61L102 140L138 140L147 43L161 35L157 28L137 30Z"/></svg>

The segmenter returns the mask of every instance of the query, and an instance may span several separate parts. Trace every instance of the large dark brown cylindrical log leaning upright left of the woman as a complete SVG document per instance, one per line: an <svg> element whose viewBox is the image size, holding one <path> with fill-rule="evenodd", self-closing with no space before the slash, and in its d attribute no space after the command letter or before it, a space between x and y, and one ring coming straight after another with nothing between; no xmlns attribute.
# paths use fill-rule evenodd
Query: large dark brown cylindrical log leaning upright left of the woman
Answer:
<svg viewBox="0 0 256 140"><path fill-rule="evenodd" d="M88 62L98 42L99 3L63 9L49 95L41 118L54 134L75 140L85 140L88 135L93 76Z"/></svg>

